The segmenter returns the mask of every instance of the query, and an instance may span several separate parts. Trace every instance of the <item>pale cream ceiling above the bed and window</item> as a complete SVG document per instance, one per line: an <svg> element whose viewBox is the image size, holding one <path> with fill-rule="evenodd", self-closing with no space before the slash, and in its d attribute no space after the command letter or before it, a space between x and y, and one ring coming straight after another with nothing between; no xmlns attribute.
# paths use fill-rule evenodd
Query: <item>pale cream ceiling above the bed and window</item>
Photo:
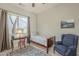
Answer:
<svg viewBox="0 0 79 59"><path fill-rule="evenodd" d="M26 11L38 14L49 8L57 6L58 4L56 3L35 3L35 7L32 7L32 3L21 3L21 4L16 3L16 4L11 4L11 5L14 5Z"/></svg>

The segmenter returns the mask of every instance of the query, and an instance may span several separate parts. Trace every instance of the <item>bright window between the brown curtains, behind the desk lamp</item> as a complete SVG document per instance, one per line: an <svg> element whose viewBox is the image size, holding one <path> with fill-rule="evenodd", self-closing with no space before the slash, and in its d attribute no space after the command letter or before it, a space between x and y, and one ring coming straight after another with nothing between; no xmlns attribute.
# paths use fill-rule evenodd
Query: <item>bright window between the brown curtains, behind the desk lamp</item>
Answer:
<svg viewBox="0 0 79 59"><path fill-rule="evenodd" d="M8 14L9 35L23 37L28 35L28 17Z"/></svg>

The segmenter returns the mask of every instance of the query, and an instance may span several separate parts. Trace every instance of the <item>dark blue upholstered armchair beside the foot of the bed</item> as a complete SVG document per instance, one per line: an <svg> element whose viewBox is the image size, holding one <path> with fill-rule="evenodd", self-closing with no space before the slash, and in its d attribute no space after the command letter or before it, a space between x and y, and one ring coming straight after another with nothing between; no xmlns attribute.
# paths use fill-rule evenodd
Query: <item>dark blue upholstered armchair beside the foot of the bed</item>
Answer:
<svg viewBox="0 0 79 59"><path fill-rule="evenodd" d="M62 40L55 42L54 50L64 56L75 56L77 51L78 36L63 34Z"/></svg>

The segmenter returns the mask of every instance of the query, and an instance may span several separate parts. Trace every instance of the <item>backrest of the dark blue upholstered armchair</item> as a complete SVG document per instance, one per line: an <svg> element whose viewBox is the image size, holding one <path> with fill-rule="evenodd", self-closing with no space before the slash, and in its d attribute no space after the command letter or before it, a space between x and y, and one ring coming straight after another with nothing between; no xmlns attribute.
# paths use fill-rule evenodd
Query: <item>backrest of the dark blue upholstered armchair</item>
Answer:
<svg viewBox="0 0 79 59"><path fill-rule="evenodd" d="M75 45L77 47L78 36L73 34L63 34L62 35L62 43L65 46Z"/></svg>

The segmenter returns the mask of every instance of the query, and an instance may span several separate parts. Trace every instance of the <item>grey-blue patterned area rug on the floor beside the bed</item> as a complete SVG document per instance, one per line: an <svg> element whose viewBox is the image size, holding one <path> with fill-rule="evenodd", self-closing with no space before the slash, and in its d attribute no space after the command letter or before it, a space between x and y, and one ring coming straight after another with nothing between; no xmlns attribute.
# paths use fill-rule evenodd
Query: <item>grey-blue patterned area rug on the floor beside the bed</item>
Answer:
<svg viewBox="0 0 79 59"><path fill-rule="evenodd" d="M26 48L18 49L8 56L49 56L46 52L39 50L33 46L27 46Z"/></svg>

